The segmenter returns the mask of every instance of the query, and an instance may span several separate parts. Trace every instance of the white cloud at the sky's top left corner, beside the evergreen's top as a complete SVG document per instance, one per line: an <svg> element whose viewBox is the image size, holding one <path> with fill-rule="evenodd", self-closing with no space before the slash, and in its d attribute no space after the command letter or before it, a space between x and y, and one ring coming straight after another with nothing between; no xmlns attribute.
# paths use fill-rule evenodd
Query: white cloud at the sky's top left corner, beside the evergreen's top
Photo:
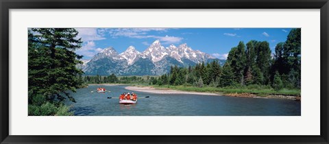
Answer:
<svg viewBox="0 0 329 144"><path fill-rule="evenodd" d="M78 38L82 38L82 41L90 41L90 40L104 40L106 38L103 37L101 31L97 31L97 28L75 28L77 29Z"/></svg>

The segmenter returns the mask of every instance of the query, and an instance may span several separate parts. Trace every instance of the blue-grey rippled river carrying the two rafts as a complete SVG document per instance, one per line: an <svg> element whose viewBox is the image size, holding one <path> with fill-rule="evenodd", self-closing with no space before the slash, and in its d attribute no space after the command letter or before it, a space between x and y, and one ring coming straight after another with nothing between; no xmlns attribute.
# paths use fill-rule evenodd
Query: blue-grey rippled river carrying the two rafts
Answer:
<svg viewBox="0 0 329 144"><path fill-rule="evenodd" d="M300 116L301 101L286 99L258 99L212 95L164 95L127 91L125 86L102 86L110 93L90 93L96 85L77 89L71 93L76 103L69 100L65 104L77 116ZM122 105L121 93L134 92L137 104Z"/></svg>

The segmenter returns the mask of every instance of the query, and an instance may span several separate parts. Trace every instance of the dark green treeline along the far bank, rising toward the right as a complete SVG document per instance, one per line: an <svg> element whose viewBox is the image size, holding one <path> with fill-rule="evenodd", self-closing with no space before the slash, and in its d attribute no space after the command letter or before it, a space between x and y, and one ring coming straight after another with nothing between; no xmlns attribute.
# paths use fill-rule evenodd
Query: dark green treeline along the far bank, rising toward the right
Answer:
<svg viewBox="0 0 329 144"><path fill-rule="evenodd" d="M228 53L228 60L221 67L217 60L199 63L194 67L172 66L169 73L158 77L80 77L86 83L140 83L184 86L271 86L300 88L301 84L301 29L292 29L284 43L276 45L272 55L267 41L241 41Z"/></svg>

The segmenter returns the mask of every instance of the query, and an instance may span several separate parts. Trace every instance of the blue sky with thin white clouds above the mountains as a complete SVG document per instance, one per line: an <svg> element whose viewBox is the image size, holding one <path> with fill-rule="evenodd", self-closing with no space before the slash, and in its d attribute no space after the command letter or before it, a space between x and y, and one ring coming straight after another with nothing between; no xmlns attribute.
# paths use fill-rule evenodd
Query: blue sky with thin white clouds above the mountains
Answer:
<svg viewBox="0 0 329 144"><path fill-rule="evenodd" d="M76 28L84 43L76 52L82 60L90 60L96 53L113 47L122 53L134 46L143 52L155 40L164 47L186 43L194 50L203 51L219 59L226 59L239 41L266 40L272 53L276 44L287 39L291 28Z"/></svg>

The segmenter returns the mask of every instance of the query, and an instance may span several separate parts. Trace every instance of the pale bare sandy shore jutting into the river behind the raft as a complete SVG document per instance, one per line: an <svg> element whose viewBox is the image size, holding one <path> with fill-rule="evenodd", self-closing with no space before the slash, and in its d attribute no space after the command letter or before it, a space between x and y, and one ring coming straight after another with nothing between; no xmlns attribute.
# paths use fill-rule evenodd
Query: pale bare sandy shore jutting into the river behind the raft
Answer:
<svg viewBox="0 0 329 144"><path fill-rule="evenodd" d="M191 95L219 95L216 93L199 93L199 92L189 92L189 91L175 91L166 89L156 89L150 86L127 86L125 89L130 91L141 91L145 93L158 93L158 94L191 94Z"/></svg>

